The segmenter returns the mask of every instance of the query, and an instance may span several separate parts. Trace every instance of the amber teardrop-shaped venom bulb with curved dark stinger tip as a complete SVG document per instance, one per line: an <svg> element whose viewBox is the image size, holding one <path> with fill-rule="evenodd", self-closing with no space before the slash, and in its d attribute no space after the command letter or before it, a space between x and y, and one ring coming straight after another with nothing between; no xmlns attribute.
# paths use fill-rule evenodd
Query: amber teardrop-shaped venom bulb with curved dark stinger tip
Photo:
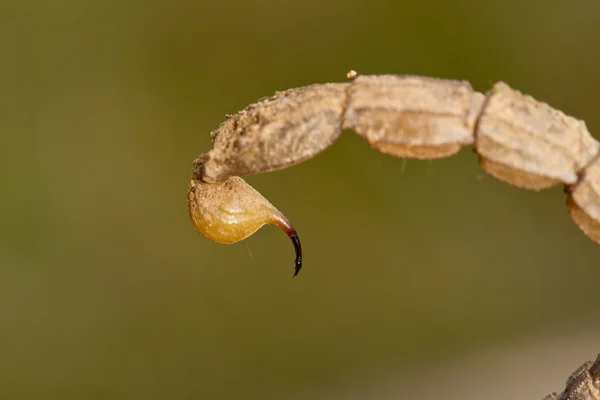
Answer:
<svg viewBox="0 0 600 400"><path fill-rule="evenodd" d="M302 246L291 222L242 178L205 183L192 178L188 190L190 218L196 229L217 243L232 244L246 239L263 225L280 227L296 252L294 277L302 268Z"/></svg>

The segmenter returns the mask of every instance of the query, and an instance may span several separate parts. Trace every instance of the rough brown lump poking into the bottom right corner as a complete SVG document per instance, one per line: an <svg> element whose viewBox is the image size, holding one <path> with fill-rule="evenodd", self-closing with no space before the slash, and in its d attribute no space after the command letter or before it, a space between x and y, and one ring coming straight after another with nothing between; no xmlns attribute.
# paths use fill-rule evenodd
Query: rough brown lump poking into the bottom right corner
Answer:
<svg viewBox="0 0 600 400"><path fill-rule="evenodd" d="M564 391L544 400L600 400L600 354L594 363L588 361L571 374Z"/></svg>

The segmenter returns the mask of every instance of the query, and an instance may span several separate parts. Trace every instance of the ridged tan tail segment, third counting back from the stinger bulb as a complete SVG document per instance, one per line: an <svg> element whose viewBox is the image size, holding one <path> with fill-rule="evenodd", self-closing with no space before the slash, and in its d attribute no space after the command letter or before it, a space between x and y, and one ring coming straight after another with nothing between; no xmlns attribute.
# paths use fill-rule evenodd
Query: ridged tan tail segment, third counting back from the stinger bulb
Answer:
<svg viewBox="0 0 600 400"><path fill-rule="evenodd" d="M583 121L504 82L487 95L475 141L486 172L528 189L575 183L598 146Z"/></svg>

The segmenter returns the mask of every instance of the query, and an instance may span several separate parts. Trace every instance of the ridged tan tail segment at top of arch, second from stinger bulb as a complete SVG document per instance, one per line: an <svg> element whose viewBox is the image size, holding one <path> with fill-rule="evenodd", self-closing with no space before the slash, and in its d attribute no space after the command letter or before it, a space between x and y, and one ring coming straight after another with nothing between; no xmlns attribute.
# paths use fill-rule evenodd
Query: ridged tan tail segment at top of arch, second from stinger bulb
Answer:
<svg viewBox="0 0 600 400"><path fill-rule="evenodd" d="M343 128L385 154L447 157L473 142L483 97L465 81L359 76L349 90Z"/></svg>

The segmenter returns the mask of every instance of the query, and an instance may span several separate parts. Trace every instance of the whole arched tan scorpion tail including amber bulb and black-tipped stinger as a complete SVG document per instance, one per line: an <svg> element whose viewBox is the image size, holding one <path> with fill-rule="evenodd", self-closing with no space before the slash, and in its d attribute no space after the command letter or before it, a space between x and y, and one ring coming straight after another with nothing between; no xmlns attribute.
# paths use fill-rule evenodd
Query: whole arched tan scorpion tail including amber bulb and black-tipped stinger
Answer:
<svg viewBox="0 0 600 400"><path fill-rule="evenodd" d="M574 223L600 244L600 143L584 121L504 82L480 93L467 81L414 75L347 74L348 81L275 93L228 116L212 148L193 164L189 213L218 243L243 240L265 224L302 248L291 222L241 177L306 161L353 130L386 155L437 159L472 146L489 175L519 188L564 185Z"/></svg>

